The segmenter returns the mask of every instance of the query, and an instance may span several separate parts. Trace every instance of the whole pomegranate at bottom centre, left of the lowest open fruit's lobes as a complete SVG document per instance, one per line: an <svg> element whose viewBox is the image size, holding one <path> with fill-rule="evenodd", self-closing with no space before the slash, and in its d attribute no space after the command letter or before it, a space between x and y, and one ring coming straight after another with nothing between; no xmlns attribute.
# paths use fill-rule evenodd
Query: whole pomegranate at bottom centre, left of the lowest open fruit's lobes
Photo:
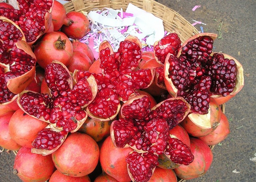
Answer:
<svg viewBox="0 0 256 182"><path fill-rule="evenodd" d="M131 181L125 161L131 151L133 151L131 148L116 148L111 141L111 137L106 138L99 155L103 171L119 182Z"/></svg>

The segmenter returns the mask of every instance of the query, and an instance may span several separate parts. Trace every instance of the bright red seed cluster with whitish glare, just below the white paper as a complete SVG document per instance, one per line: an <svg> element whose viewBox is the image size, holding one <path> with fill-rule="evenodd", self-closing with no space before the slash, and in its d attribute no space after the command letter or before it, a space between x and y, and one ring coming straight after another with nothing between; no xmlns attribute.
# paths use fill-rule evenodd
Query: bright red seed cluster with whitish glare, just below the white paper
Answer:
<svg viewBox="0 0 256 182"><path fill-rule="evenodd" d="M154 53L157 60L164 64L167 54L171 53L172 55L176 56L180 47L181 40L179 39L178 34L170 33L159 40L156 45L154 45Z"/></svg>

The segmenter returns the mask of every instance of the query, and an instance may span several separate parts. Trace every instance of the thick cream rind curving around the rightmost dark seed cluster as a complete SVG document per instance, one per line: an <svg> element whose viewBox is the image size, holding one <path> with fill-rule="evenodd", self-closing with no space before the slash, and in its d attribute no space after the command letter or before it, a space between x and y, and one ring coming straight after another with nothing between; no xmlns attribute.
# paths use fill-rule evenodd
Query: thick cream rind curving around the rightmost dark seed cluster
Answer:
<svg viewBox="0 0 256 182"><path fill-rule="evenodd" d="M212 53L212 55L214 54L215 52ZM239 63L239 61L235 58L233 58L232 56L229 56L228 54L224 54L224 53L221 53L224 55L224 58L227 58L227 59L233 59L236 63L236 68L237 68L237 78L236 78L236 86L234 87L234 90L226 97L228 97L228 99L225 99L225 97L221 96L221 95L212 95L211 97L212 98L219 98L219 100L224 100L225 102L229 99L232 98L232 96L235 96L238 92L240 92L240 90L242 90L243 86L244 86L244 69L243 69L243 66L241 63ZM225 103L223 102L223 103ZM223 104L221 103L221 104Z"/></svg>

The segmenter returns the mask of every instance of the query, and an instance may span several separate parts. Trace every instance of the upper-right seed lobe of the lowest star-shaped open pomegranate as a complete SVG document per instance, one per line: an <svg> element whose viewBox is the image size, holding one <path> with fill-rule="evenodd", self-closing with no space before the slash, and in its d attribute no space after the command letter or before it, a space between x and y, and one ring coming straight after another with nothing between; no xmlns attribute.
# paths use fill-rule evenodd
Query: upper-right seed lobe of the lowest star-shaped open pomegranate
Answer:
<svg viewBox="0 0 256 182"><path fill-rule="evenodd" d="M156 109L151 111L151 119L160 118L165 119L169 128L172 129L184 118L188 106L183 100L180 99L167 99L161 103Z"/></svg>

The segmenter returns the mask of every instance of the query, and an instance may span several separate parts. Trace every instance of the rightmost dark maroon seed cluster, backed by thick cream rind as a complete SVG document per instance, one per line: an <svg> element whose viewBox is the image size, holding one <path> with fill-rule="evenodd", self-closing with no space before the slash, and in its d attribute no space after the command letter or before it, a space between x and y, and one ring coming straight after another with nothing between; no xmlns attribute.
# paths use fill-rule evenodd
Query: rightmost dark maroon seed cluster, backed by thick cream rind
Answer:
<svg viewBox="0 0 256 182"><path fill-rule="evenodd" d="M225 59L223 54L214 53L207 63L207 74L212 78L210 91L227 96L236 86L237 68L233 59Z"/></svg>

